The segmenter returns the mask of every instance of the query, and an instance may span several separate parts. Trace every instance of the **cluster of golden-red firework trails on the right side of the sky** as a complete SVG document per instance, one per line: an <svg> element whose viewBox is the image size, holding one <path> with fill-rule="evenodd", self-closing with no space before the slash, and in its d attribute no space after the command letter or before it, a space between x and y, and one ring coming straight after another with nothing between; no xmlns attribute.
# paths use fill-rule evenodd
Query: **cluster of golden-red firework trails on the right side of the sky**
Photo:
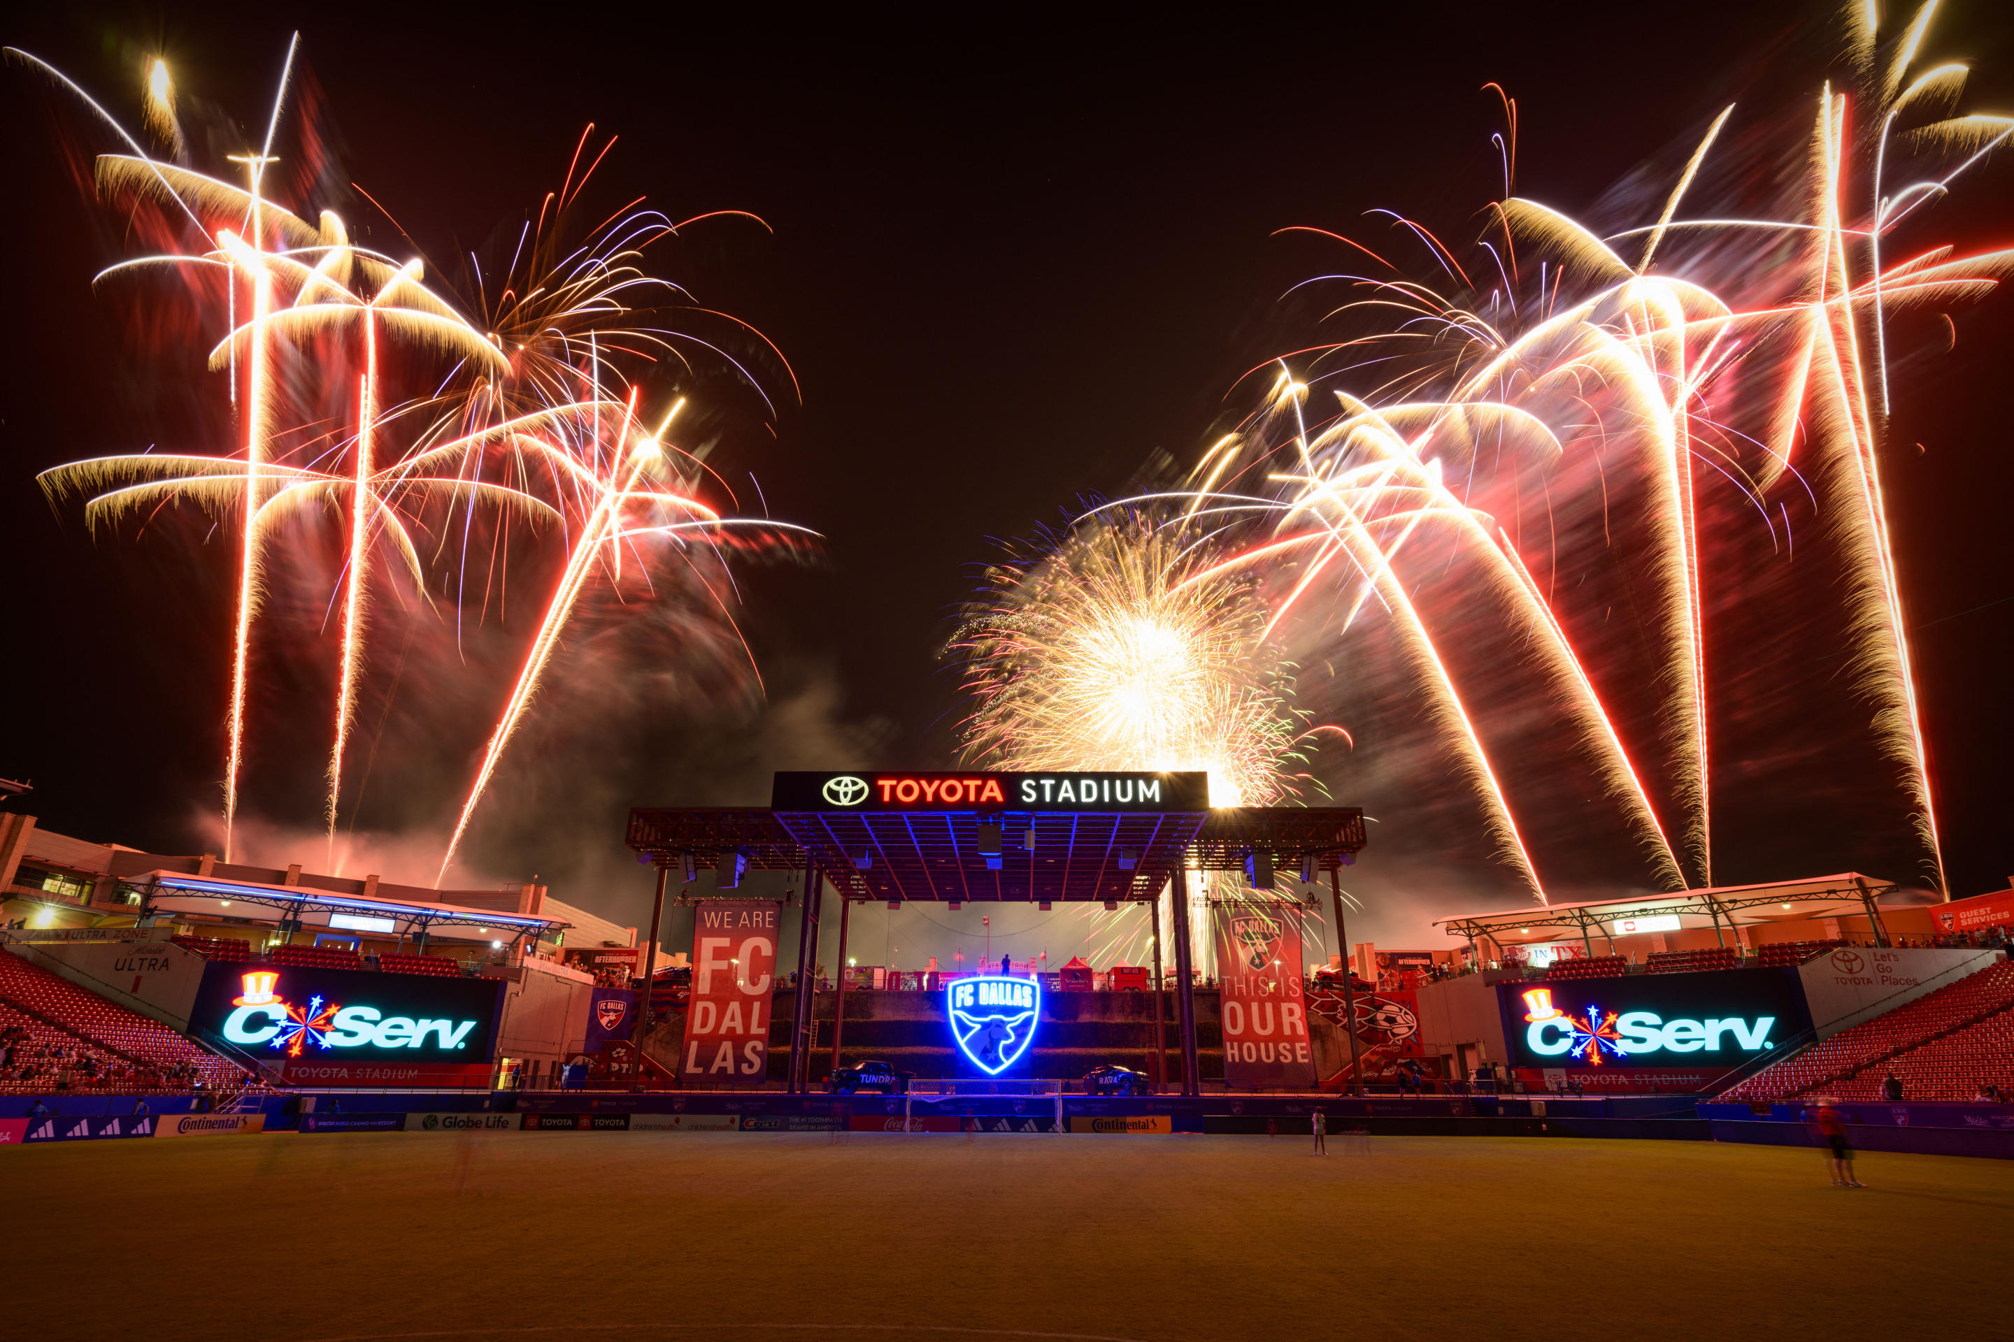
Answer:
<svg viewBox="0 0 2014 1342"><path fill-rule="evenodd" d="M1706 495L1746 501L1774 535L1772 487L1796 481L1809 491L1807 475L1835 499L1825 521L1847 561L1855 684L1875 706L1875 736L1909 797L1925 873L1944 885L1883 499L1877 406L1887 404L1885 322L1899 308L1982 296L2014 270L2014 249L1956 258L1950 247L1927 247L1893 264L1881 260L1881 245L2004 145L2014 121L1948 115L1964 66L1939 64L1911 80L1931 12L1917 10L1887 48L1863 26L1859 97L1871 111L1861 119L1877 133L1857 143L1849 97L1823 91L1805 195L1792 201L1803 213L1688 213L1692 195L1714 177L1730 107L1643 227L1599 235L1506 191L1488 207L1478 256L1464 266L1422 225L1386 215L1420 243L1448 286L1408 278L1382 251L1311 229L1378 262L1370 274L1319 278L1353 290L1331 316L1368 330L1279 360L1261 408L1202 457L1190 489L1122 501L1158 507L1168 515L1164 525L1218 549L1198 579L1259 573L1271 608L1267 638L1327 646L1365 608L1384 610L1442 736L1466 765L1500 855L1539 899L1543 887L1510 819L1517 781L1490 765L1490 724L1466 712L1440 652L1452 628L1466 628L1448 626L1448 616L1466 622L1494 610L1506 628L1527 632L1529 654L1569 710L1583 754L1621 803L1656 879L1708 885L1708 598L1728 579L1708 565L1720 537L1708 529ZM1515 119L1515 103L1506 109ZM1927 175L1889 195L1881 181L1895 167L1897 141ZM1869 159L1871 199L1853 185L1853 165ZM1506 187L1513 161L1506 145ZM1857 207L1855 199L1869 203ZM1774 264L1786 237L1803 239L1790 270ZM1625 245L1639 249L1633 266L1621 258ZM1374 380L1359 386L1363 378ZM1309 427L1305 406L1315 386L1333 388L1337 406ZM1635 519L1651 537L1645 575L1662 592L1649 624L1664 666L1656 773L1639 767L1647 752L1625 746L1605 702L1629 686L1605 684L1569 634L1575 620L1563 618L1551 583L1533 575L1521 527L1490 511L1523 507L1523 487L1543 491L1557 535L1555 491L1571 489L1571 471L1587 469L1583 463L1593 463L1601 481L1603 535L1609 473L1641 485ZM1424 537L1458 549L1434 545L1414 557ZM1444 612L1448 598L1432 583L1422 590L1422 565L1452 565L1456 553L1478 563L1486 581L1462 590ZM1557 575L1557 549L1547 567ZM1668 795L1664 815L1653 781Z"/></svg>

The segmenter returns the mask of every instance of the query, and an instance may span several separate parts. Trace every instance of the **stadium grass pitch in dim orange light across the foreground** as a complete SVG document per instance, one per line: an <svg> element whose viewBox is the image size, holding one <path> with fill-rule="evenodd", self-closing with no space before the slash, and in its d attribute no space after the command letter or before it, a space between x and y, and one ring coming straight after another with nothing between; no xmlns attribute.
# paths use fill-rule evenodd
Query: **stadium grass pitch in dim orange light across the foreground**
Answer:
<svg viewBox="0 0 2014 1342"><path fill-rule="evenodd" d="M2010 1336L2014 1163L506 1133L0 1151L10 1338Z"/></svg>

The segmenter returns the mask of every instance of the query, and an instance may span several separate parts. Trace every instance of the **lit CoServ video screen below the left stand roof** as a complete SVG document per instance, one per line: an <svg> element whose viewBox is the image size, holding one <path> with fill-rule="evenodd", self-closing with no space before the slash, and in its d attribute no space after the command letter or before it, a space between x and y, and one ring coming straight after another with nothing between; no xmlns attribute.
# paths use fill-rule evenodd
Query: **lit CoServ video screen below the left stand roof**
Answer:
<svg viewBox="0 0 2014 1342"><path fill-rule="evenodd" d="M503 980L213 962L191 1028L318 1084L487 1076Z"/></svg>

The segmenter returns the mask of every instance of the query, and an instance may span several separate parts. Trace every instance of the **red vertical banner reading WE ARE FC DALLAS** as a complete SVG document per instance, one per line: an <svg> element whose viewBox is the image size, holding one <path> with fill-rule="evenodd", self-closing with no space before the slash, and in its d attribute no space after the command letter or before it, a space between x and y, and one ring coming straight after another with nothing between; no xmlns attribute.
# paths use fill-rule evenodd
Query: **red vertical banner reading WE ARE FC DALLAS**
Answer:
<svg viewBox="0 0 2014 1342"><path fill-rule="evenodd" d="M693 909L693 1004L681 1078L759 1086L769 1074L781 907L775 899L703 899Z"/></svg>

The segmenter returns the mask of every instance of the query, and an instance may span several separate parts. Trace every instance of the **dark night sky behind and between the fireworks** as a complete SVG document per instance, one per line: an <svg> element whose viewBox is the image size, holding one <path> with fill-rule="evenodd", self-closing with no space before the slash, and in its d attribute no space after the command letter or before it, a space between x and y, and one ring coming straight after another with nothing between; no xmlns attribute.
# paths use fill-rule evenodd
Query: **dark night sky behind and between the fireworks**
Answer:
<svg viewBox="0 0 2014 1342"><path fill-rule="evenodd" d="M1728 101L1803 99L1825 46L1825 14L1786 4L997 10L985 24L943 10L727 22L663 6L588 8L580 28L550 12L278 8L75 6L16 16L0 38L129 117L139 58L163 50L181 89L254 125L298 24L346 175L437 274L516 227L588 121L620 135L594 187L610 209L649 195L675 217L747 209L773 227L707 225L669 270L761 328L802 378L802 406L781 388L773 437L737 431L723 447L777 517L828 537L816 565L749 579L771 702L794 708L755 746L731 740L745 722L644 722L642 738L663 730L667 744L640 757L540 736L520 761L540 787L479 835L491 869L538 869L560 897L622 917L646 885L620 867L624 805L761 803L771 767L951 763L959 696L937 652L977 565L999 539L1122 493L1158 453L1190 461L1241 408L1225 400L1237 376L1301 334L1279 296L1329 264L1275 229L1359 229L1374 205L1468 227L1500 189L1486 80L1519 99L1521 193L1577 209L1696 141ZM1937 30L1976 62L1968 107L2014 105L2002 6L1956 0ZM226 602L177 557L185 547L93 541L34 485L60 461L153 441L159 388L117 304L89 290L119 237L64 169L75 117L20 64L0 68L0 775L34 781L24 809L50 829L189 851L215 797ZM1978 175L1941 217L1948 237L2008 233L2010 167ZM367 205L344 207L373 245L411 247ZM1891 507L1952 887L1966 895L2014 871L2014 296L1956 320L1956 350L1897 400L1891 439L1923 451L1893 457ZM777 744L794 726L814 744ZM308 791L274 783L248 809L312 821L300 801L320 759L302 740ZM1865 817L1835 823L1851 835ZM1734 873L1774 875L1803 871Z"/></svg>

